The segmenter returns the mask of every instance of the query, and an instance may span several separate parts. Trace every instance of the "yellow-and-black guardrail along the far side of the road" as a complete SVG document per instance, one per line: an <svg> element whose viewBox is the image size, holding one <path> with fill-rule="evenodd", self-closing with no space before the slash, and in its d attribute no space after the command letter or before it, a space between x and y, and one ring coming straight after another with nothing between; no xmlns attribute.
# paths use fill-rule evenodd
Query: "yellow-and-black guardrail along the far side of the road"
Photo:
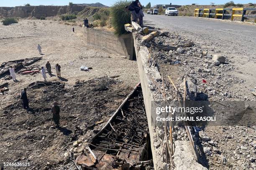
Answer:
<svg viewBox="0 0 256 170"><path fill-rule="evenodd" d="M231 10L232 13L226 13L228 10ZM194 17L212 18L212 16L214 16L214 18L217 19L218 16L222 16L222 20L224 20L225 16L230 17L230 20L234 20L234 17L241 17L241 21L244 21L245 17L247 17L254 18L254 23L256 23L256 15L246 15L247 10L256 11L256 8L197 8L195 9ZM222 13L220 13L220 11L222 11ZM242 11L242 14L236 14L237 11Z"/></svg>

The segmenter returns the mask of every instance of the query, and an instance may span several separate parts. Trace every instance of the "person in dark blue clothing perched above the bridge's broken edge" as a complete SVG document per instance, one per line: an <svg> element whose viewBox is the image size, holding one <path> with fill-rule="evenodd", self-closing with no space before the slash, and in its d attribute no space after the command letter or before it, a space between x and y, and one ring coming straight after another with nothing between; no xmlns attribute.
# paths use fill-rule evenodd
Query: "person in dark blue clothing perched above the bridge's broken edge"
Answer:
<svg viewBox="0 0 256 170"><path fill-rule="evenodd" d="M142 11L142 6L139 7L138 4L139 0L135 0L133 2L131 2L131 4L129 6L125 7L126 11L131 11L131 15L133 17L134 22L137 22L138 19L140 20L140 25L142 26L141 22L143 22L142 18L144 17L143 11Z"/></svg>

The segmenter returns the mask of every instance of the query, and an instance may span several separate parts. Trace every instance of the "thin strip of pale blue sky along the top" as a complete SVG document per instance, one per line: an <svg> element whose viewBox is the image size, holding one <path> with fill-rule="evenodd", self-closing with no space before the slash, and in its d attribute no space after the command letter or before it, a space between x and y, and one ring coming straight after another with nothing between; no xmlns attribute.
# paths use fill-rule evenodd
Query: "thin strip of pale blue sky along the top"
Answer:
<svg viewBox="0 0 256 170"><path fill-rule="evenodd" d="M103 5L111 6L117 0L0 0L0 7L14 7L22 6L26 3L30 5L68 5L69 2L73 3L96 3L100 2ZM197 3L199 5L210 5L210 2L215 2L215 4L225 4L230 0L140 0L142 5L146 5L151 2L151 6L156 4L170 4L173 5L191 5L192 3ZM233 0L235 3L246 4L249 2L256 3L256 0Z"/></svg>

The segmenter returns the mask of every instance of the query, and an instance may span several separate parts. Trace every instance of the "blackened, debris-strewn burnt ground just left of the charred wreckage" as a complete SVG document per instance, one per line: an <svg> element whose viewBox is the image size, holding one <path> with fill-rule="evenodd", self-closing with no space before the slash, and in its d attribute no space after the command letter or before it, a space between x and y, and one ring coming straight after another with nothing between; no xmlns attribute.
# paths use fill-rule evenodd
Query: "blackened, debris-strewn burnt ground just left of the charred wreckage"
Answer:
<svg viewBox="0 0 256 170"><path fill-rule="evenodd" d="M22 102L17 99L4 108L8 114L0 113L1 162L20 159L30 162L32 169L44 169L49 162L49 169L75 170L67 148L72 148L74 141L81 141L74 147L80 152L84 142L105 125L95 123L106 122L131 90L108 77L84 81L74 88L62 84L35 82L28 86L31 87L27 95L33 114L23 110ZM61 108L60 128L55 128L52 120L54 101Z"/></svg>

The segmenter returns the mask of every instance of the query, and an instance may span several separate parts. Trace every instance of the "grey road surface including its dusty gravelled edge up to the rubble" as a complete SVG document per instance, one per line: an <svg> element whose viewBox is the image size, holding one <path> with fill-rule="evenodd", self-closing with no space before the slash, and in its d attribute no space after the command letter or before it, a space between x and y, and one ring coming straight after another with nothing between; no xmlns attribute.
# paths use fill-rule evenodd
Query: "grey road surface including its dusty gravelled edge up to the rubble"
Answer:
<svg viewBox="0 0 256 170"><path fill-rule="evenodd" d="M191 39L210 53L227 56L236 67L233 75L246 80L237 87L243 95L256 86L256 25L196 17L148 15L144 25ZM214 52L211 50L214 49Z"/></svg>

